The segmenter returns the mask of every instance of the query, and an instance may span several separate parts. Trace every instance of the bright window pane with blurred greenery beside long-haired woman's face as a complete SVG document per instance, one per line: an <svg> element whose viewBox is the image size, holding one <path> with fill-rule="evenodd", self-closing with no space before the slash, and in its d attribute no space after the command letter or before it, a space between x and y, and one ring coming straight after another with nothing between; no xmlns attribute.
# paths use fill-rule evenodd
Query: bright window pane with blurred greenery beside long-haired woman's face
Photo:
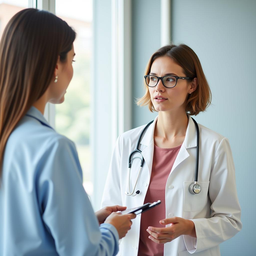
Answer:
<svg viewBox="0 0 256 256"><path fill-rule="evenodd" d="M74 141L83 170L83 184L89 196L93 193L91 168L91 59L92 59L92 0L56 0L55 14L76 32L73 62L74 74L65 101L55 105L55 129Z"/></svg>

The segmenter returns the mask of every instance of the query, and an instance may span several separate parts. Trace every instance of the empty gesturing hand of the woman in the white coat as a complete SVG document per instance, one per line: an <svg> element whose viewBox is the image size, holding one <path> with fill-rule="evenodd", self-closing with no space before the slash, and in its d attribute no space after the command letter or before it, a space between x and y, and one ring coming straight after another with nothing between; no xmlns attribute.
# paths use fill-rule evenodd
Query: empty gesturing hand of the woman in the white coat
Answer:
<svg viewBox="0 0 256 256"><path fill-rule="evenodd" d="M167 228L148 227L148 238L156 243L167 243L181 235L196 237L195 225L192 220L186 220L179 217L163 219L159 221L161 225L168 225Z"/></svg>

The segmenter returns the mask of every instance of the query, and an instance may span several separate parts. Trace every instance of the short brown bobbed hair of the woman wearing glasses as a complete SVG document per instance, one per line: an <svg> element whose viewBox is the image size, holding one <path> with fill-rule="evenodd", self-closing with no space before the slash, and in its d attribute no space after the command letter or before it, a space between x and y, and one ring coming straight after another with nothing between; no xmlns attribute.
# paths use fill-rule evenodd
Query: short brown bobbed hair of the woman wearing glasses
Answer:
<svg viewBox="0 0 256 256"><path fill-rule="evenodd" d="M151 70L153 61L158 57L168 56L175 63L181 66L184 70L186 77L193 77L198 79L198 86L193 94L188 94L186 111L190 115L197 115L211 104L211 90L205 74L203 72L201 63L195 54L195 52L185 44L166 45L158 49L150 58L146 67L145 75L148 75ZM148 90L148 86L144 81L144 87L146 89L145 95L137 100L137 105L146 106L151 112L156 111Z"/></svg>

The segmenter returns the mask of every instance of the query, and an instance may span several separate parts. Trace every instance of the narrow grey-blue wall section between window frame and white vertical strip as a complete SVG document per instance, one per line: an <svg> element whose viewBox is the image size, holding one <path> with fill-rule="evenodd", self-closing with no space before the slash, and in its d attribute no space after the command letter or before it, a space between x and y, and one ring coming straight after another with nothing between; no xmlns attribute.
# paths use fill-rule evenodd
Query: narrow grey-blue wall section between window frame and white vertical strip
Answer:
<svg viewBox="0 0 256 256"><path fill-rule="evenodd" d="M143 96L143 79L147 62L160 46L160 0L132 1L132 71L133 102ZM147 107L139 108L135 103L132 108L132 125L137 127L147 120L152 120L155 113Z"/></svg>

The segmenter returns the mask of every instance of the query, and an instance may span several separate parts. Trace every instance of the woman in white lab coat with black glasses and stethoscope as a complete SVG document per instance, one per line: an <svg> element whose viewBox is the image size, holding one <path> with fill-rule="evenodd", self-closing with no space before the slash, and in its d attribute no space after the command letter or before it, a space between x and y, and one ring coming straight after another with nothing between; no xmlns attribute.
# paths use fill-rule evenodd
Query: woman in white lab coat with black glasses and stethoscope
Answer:
<svg viewBox="0 0 256 256"><path fill-rule="evenodd" d="M228 139L191 118L211 102L200 61L186 45L167 45L144 78L138 104L158 116L118 137L102 206L162 203L134 220L119 255L219 256L242 228L241 209Z"/></svg>

